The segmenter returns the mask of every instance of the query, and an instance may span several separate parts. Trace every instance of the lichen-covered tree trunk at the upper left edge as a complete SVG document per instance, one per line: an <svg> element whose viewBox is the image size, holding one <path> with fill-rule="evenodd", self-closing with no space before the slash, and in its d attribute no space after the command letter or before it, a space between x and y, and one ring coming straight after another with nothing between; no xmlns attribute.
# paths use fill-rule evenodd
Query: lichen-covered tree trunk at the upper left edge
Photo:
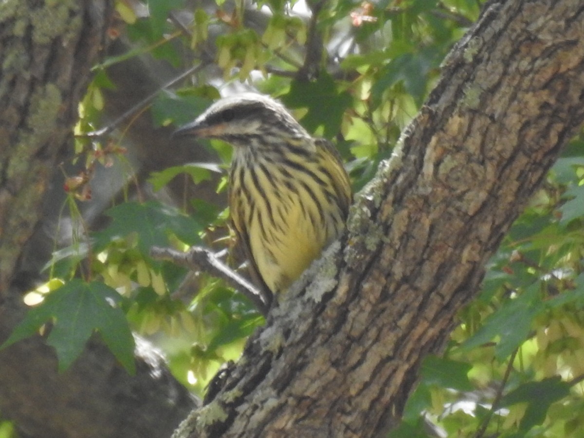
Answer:
<svg viewBox="0 0 584 438"><path fill-rule="evenodd" d="M57 155L71 139L89 67L105 43L106 5L0 6L0 294L39 221Z"/></svg>

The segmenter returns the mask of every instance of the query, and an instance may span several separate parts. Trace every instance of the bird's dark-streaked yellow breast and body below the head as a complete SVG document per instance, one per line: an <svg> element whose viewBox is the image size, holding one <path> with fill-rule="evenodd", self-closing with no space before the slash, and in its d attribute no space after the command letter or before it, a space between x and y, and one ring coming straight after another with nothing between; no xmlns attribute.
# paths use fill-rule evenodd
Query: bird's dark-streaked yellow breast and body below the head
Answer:
<svg viewBox="0 0 584 438"><path fill-rule="evenodd" d="M349 178L324 140L288 143L286 154L237 148L231 168L235 231L266 286L286 290L339 236L351 201Z"/></svg>

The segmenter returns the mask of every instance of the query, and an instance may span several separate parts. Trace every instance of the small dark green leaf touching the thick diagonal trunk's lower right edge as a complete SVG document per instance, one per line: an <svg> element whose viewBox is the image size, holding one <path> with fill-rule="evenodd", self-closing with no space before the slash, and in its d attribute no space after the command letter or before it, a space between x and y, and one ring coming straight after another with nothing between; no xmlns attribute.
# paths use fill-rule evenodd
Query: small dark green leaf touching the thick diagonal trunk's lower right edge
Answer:
<svg viewBox="0 0 584 438"><path fill-rule="evenodd" d="M465 362L427 356L422 362L420 373L425 384L434 384L458 391L472 391L473 387L467 376L471 368L472 366Z"/></svg>

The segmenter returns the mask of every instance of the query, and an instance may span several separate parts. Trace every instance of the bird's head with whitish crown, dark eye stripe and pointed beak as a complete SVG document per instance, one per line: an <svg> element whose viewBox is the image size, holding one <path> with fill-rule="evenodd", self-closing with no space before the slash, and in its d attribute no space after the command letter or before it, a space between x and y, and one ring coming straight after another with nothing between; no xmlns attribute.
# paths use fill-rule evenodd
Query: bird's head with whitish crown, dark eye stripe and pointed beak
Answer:
<svg viewBox="0 0 584 438"><path fill-rule="evenodd" d="M242 93L215 102L174 137L193 135L219 138L235 147L249 147L274 140L298 140L310 135L276 100L257 93Z"/></svg>

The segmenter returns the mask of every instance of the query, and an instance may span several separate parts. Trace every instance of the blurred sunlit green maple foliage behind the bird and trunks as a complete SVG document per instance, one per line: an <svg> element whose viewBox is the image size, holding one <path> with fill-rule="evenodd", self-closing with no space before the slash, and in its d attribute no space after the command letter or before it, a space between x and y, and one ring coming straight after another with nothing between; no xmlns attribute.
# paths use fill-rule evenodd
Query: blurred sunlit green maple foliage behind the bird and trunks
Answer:
<svg viewBox="0 0 584 438"><path fill-rule="evenodd" d="M8 343L51 320L48 343L66 368L98 331L131 372L131 329L203 395L263 318L222 281L151 258L152 245L225 254L234 244L231 148L169 134L221 95L268 93L336 142L358 191L391 157L481 4L116 0L112 50L79 105L54 195L52 256ZM583 144L573 139L513 225L444 356L423 361L392 437L427 436L428 420L439 436L582 436ZM0 437L12 431L0 422Z"/></svg>

